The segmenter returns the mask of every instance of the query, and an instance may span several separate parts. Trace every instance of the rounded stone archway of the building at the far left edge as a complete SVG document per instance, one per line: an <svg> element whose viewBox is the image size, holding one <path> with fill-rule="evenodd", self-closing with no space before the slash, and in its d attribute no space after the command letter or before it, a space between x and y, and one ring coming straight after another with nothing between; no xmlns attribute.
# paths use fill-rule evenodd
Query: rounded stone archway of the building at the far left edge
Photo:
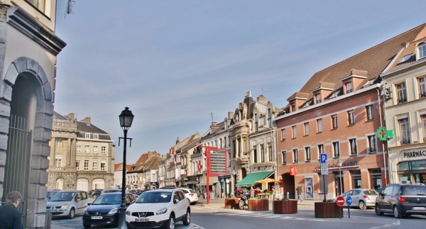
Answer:
<svg viewBox="0 0 426 229"><path fill-rule="evenodd" d="M3 184L0 188L5 196L9 191L16 190L23 193L23 201L26 201L26 228L40 228L45 222L45 196L48 181L48 155L50 154L49 141L52 128L53 114L53 82L48 77L38 62L28 57L19 57L11 62L6 71L4 80L0 82L0 167L5 168ZM20 143L17 135L12 135L9 130L12 116L18 116L26 121L26 129L31 132L29 140L28 160L23 164L28 182L19 186L12 184L18 173L11 161L18 159L12 151L11 143ZM7 146L7 147L6 147ZM9 157L9 160L8 160ZM13 169L13 172L7 172ZM6 171L7 170L7 171ZM30 175L31 174L31 175Z"/></svg>

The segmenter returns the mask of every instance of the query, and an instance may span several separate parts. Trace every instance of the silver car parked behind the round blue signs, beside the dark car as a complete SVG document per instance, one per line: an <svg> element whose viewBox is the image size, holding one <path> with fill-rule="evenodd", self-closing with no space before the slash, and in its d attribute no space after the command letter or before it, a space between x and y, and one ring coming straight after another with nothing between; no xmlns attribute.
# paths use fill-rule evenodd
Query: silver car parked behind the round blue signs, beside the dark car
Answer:
<svg viewBox="0 0 426 229"><path fill-rule="evenodd" d="M348 196L351 196L351 206L357 206L359 209L365 210L367 207L374 207L376 205L378 192L373 189L351 189L340 196L344 198L344 206L348 206L346 199ZM334 202L336 202L336 199L334 199Z"/></svg>

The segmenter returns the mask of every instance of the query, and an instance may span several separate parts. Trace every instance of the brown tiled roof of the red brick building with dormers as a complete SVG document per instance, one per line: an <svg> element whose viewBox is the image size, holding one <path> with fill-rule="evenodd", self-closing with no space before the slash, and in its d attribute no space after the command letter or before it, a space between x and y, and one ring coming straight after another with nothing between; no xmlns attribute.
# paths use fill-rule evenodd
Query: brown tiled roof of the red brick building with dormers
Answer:
<svg viewBox="0 0 426 229"><path fill-rule="evenodd" d="M419 36L421 37L422 34L425 34L425 26L426 23L316 72L306 84L302 86L299 92L310 94L310 98L312 98L313 94L311 91L315 89L320 82L332 83L334 84L334 90L339 89L342 87L342 81L340 79L349 76L351 74L351 69L368 72L366 79L364 79L359 86L359 88L361 88L369 80L376 79L383 70L388 67L395 55L400 52L400 45L402 43L411 43L414 40L418 40ZM293 94L289 99L293 99L294 96Z"/></svg>

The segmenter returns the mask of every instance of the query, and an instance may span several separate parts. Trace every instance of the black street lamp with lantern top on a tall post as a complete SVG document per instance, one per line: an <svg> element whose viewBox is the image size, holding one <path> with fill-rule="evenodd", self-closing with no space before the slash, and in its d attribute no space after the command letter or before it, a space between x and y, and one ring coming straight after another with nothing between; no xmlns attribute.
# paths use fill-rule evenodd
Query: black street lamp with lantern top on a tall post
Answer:
<svg viewBox="0 0 426 229"><path fill-rule="evenodd" d="M127 130L133 122L133 113L129 111L129 107L124 108L119 115L121 128L124 130L124 150L123 150L123 179L121 180L121 206L119 228L127 228L126 225L126 147L127 147ZM119 138L121 139L121 138ZM130 144L131 144L131 138ZM120 145L120 140L119 140Z"/></svg>

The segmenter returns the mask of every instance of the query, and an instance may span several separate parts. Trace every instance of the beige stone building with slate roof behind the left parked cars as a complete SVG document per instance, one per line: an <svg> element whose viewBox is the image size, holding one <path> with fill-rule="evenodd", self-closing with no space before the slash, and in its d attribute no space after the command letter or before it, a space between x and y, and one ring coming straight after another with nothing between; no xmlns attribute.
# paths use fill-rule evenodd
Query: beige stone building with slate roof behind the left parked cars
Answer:
<svg viewBox="0 0 426 229"><path fill-rule="evenodd" d="M114 141L89 117L54 112L48 173L48 189L113 188Z"/></svg>

